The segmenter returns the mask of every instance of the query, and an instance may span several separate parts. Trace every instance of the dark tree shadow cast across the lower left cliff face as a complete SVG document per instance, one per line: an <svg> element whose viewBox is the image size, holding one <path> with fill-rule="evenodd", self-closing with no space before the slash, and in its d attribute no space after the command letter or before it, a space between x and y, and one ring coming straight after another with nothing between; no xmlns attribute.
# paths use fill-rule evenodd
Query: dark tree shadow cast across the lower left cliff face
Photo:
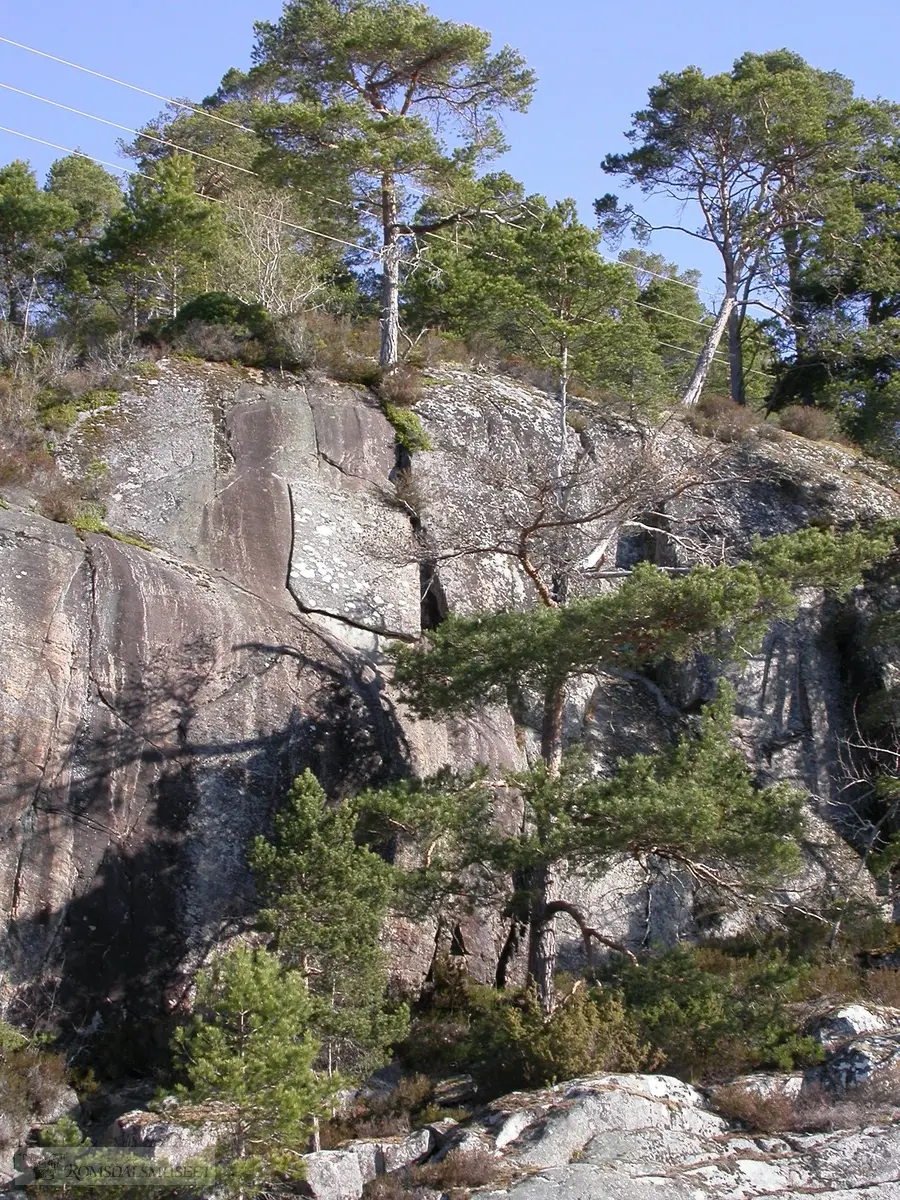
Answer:
<svg viewBox="0 0 900 1200"><path fill-rule="evenodd" d="M293 779L308 767L341 796L407 769L377 685L317 641L223 650L200 635L91 678L58 781L17 787L14 1015L61 1020L101 1070L151 1070L193 970L253 911L247 853ZM52 883L66 902L41 902Z"/></svg>

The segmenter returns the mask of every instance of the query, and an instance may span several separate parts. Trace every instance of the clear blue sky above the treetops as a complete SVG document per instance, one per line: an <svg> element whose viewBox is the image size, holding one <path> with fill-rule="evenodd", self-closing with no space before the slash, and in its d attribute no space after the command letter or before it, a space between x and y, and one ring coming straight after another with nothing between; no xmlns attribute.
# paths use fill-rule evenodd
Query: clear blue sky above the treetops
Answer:
<svg viewBox="0 0 900 1200"><path fill-rule="evenodd" d="M281 0L34 0L7 4L0 35L126 79L162 95L202 98L229 66L246 66L252 24L275 19ZM850 76L863 95L900 100L898 0L433 0L442 17L490 29L518 48L539 88L527 116L508 121L504 166L529 191L572 196L590 220L596 196L618 181L602 156L662 71L695 64L727 70L744 50L787 46L811 64ZM0 43L0 82L137 126L162 106ZM0 90L0 125L116 161L119 131ZM43 174L58 154L0 133L0 161L30 158ZM121 160L119 160L121 161ZM714 258L677 233L656 248L700 266L715 286Z"/></svg>

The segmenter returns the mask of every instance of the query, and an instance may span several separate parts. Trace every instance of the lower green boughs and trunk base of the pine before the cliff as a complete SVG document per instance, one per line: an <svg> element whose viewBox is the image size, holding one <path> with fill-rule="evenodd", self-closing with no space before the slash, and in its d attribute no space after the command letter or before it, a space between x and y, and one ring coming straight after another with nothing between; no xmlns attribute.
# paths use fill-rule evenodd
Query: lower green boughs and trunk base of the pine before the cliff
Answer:
<svg viewBox="0 0 900 1200"><path fill-rule="evenodd" d="M420 838L427 829L426 840L442 845L438 860L412 874L410 895L457 905L476 896L511 920L497 968L499 986L506 983L515 947L528 934L529 978L548 1014L558 917L575 922L588 960L594 942L634 959L604 930L590 926L577 905L550 899L564 864L596 875L616 856L628 854L644 866L665 862L710 889L744 899L756 883L797 865L800 797L786 785L754 784L743 756L728 743L733 702L733 690L722 684L698 732L658 754L620 760L610 779L599 779L587 758L572 752L558 772L541 763L506 774L502 785L484 776L440 775L368 793L361 803L392 828ZM509 822L494 820L498 786L511 788L522 805L512 830ZM443 890L434 886L442 872ZM504 889L502 878L511 880L511 888Z"/></svg>

